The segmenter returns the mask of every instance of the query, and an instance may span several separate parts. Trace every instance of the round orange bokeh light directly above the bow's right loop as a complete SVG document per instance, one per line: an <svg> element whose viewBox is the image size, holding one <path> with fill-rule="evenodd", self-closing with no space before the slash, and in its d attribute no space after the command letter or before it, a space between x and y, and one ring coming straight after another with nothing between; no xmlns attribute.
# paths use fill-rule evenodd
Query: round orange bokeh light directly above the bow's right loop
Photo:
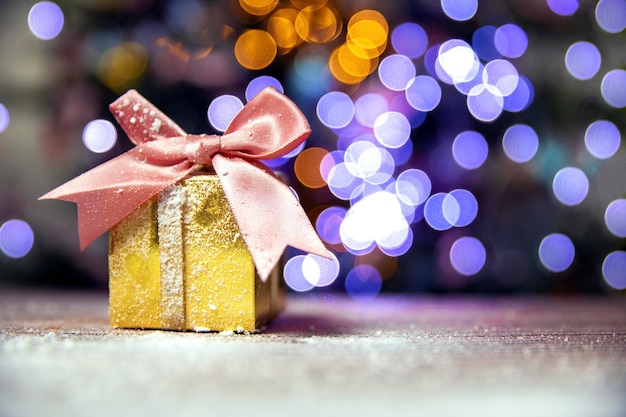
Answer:
<svg viewBox="0 0 626 417"><path fill-rule="evenodd" d="M243 32L235 42L235 58L249 70L260 70L276 58L276 41L264 30L251 29Z"/></svg>

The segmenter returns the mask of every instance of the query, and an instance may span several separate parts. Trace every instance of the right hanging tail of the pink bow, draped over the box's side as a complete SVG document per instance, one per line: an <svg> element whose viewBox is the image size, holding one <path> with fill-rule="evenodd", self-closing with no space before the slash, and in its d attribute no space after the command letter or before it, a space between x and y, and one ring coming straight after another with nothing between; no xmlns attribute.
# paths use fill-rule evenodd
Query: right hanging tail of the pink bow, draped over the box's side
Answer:
<svg viewBox="0 0 626 417"><path fill-rule="evenodd" d="M260 162L215 155L213 167L263 281L287 246L332 256L289 187Z"/></svg>

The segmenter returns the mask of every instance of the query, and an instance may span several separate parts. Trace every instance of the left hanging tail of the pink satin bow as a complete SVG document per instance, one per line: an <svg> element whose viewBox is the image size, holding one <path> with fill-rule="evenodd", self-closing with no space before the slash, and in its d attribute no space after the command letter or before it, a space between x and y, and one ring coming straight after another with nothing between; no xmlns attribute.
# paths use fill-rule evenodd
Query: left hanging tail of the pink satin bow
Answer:
<svg viewBox="0 0 626 417"><path fill-rule="evenodd" d="M81 250L193 167L186 160L169 167L151 165L140 153L133 148L39 197L77 204Z"/></svg>

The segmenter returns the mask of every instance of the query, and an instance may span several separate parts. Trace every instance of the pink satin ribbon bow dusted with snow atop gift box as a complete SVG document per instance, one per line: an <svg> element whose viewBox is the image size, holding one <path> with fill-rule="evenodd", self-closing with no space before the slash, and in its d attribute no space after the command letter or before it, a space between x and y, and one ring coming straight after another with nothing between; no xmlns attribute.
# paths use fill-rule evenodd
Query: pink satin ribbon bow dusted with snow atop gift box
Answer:
<svg viewBox="0 0 626 417"><path fill-rule="evenodd" d="M289 187L258 161L292 151L311 133L287 97L264 89L221 137L188 135L134 90L110 109L136 146L40 197L77 203L81 250L197 165L212 164L261 279L288 245L330 257Z"/></svg>

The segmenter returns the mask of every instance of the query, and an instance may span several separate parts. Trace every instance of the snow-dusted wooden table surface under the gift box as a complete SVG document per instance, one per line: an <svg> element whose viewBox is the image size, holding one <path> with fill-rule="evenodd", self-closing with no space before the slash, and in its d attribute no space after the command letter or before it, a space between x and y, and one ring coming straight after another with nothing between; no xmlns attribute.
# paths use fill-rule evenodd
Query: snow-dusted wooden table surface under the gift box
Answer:
<svg viewBox="0 0 626 417"><path fill-rule="evenodd" d="M111 329L3 289L0 416L626 416L626 299L289 299L263 333Z"/></svg>

